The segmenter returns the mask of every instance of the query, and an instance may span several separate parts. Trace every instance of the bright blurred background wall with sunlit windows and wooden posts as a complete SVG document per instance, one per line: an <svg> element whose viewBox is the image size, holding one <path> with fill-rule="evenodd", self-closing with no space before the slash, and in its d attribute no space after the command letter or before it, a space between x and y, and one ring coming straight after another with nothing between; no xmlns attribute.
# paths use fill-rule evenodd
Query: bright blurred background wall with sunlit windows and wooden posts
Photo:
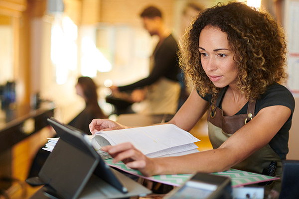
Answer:
<svg viewBox="0 0 299 199"><path fill-rule="evenodd" d="M263 0L256 6L263 6L284 24L286 1ZM36 96L54 101L57 117L67 122L84 106L74 88L77 77L93 78L101 100L109 95L105 86L126 85L149 75L149 56L157 38L143 28L139 14L144 7L159 7L178 40L188 23L183 9L189 2L202 7L216 3L0 0L0 85L13 84L12 101L17 104L32 105ZM104 101L100 103L107 114L113 111Z"/></svg>

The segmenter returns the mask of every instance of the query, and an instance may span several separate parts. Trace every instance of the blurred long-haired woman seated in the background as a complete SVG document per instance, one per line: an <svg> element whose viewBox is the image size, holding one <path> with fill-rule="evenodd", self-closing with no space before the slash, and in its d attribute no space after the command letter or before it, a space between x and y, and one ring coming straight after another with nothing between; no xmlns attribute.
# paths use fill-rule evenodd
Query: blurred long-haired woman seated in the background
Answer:
<svg viewBox="0 0 299 199"><path fill-rule="evenodd" d="M80 112L68 124L88 134L90 133L88 125L94 118L107 118L107 116L103 113L99 106L97 86L90 77L78 78L76 92L77 95L85 100L86 106L82 112ZM57 137L57 134L55 134L54 137ZM32 162L28 178L38 176L38 173L49 154L49 151L45 151L42 148L39 149Z"/></svg>

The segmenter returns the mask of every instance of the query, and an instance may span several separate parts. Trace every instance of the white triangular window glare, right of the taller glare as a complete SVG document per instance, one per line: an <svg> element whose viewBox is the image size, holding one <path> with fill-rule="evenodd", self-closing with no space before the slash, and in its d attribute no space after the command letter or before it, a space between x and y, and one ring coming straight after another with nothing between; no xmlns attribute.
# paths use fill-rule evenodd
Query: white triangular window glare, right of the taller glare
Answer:
<svg viewBox="0 0 299 199"><path fill-rule="evenodd" d="M109 72L112 69L110 62L97 49L89 37L82 38L81 74L96 77L97 71Z"/></svg>

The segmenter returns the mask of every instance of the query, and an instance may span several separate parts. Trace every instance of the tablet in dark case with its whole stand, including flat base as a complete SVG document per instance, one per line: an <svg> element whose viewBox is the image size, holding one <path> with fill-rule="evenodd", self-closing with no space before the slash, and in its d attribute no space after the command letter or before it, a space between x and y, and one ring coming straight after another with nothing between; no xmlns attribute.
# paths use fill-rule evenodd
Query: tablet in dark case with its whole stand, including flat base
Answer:
<svg viewBox="0 0 299 199"><path fill-rule="evenodd" d="M76 199L82 198L82 194L92 194L99 199L150 193L142 185L106 165L84 132L53 117L47 120L60 137L38 174L38 180L46 185L49 195L59 199ZM94 189L98 193L94 190L87 193L87 184L89 190L92 186L98 186ZM105 193L107 190L110 190L109 193Z"/></svg>

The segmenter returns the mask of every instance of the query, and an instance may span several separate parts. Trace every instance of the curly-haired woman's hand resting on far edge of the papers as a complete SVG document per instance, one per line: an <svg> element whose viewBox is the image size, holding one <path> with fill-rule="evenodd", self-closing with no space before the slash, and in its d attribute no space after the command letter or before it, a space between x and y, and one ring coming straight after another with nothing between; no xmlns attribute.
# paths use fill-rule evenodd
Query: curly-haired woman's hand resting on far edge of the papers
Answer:
<svg viewBox="0 0 299 199"><path fill-rule="evenodd" d="M116 121L110 119L93 119L89 124L89 130L94 135L98 131L108 131L128 128Z"/></svg>

